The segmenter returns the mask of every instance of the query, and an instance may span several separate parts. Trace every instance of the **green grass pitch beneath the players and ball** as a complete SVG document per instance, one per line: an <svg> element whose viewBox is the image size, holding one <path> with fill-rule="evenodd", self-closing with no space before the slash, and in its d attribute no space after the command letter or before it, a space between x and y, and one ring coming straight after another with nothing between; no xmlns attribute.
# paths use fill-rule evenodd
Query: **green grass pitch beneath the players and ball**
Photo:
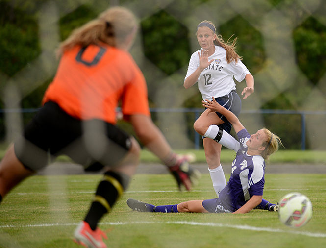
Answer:
<svg viewBox="0 0 326 248"><path fill-rule="evenodd" d="M229 175L226 175L228 178ZM73 240L100 175L33 176L15 188L0 205L0 247L79 247ZM320 248L326 247L325 174L266 174L264 198L276 203L301 192L313 204L311 221L287 227L277 213L253 210L245 215L139 213L126 205L135 198L155 205L214 198L209 174L192 192L178 192L169 174L136 174L124 196L100 228L114 248Z"/></svg>

